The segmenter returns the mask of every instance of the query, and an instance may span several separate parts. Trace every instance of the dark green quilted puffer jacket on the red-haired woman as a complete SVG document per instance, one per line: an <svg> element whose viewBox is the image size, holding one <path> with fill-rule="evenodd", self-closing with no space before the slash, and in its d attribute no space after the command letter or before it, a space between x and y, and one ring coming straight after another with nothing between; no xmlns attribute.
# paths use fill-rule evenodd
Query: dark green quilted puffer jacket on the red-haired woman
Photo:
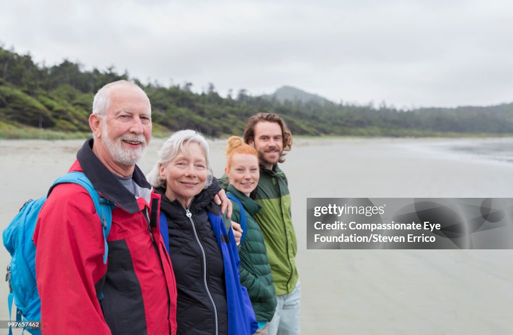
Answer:
<svg viewBox="0 0 513 335"><path fill-rule="evenodd" d="M253 216L262 208L232 185L227 193L232 193L242 203L246 212L246 238L239 247L239 267L241 284L246 287L257 321L271 321L276 309L274 285L272 285L271 266L264 244L264 236ZM232 220L240 222L241 210L234 201Z"/></svg>

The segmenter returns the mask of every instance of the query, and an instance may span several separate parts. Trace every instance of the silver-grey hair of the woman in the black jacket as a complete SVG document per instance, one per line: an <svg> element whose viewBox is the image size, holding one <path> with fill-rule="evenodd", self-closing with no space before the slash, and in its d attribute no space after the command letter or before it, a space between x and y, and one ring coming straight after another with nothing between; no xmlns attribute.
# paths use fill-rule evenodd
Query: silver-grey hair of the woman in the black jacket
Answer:
<svg viewBox="0 0 513 335"><path fill-rule="evenodd" d="M155 188L163 187L166 188L166 181L160 176L160 166L166 165L169 161L172 161L174 157L180 154L180 152L189 153L189 143L198 143L200 148L205 153L205 162L207 165L207 182L205 187L207 188L212 184L212 167L210 165L210 149L208 147L207 140L202 133L192 130L185 129L179 130L172 134L162 145L161 149L157 152L159 160L153 166L151 171L146 175L146 179L151 186Z"/></svg>

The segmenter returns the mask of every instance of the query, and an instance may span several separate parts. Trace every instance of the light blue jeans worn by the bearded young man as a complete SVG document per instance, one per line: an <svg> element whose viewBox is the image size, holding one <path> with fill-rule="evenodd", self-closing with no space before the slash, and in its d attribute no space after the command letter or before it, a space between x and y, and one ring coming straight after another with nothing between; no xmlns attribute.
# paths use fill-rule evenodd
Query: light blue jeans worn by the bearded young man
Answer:
<svg viewBox="0 0 513 335"><path fill-rule="evenodd" d="M299 335L301 309L301 285L295 284L290 294L276 296L276 311L269 323L269 335Z"/></svg>

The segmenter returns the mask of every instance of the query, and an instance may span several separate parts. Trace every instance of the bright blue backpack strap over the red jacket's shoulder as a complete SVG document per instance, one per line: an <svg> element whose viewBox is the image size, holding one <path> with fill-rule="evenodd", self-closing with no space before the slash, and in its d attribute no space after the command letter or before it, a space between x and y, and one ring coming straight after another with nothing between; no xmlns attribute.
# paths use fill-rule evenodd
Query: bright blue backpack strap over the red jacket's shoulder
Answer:
<svg viewBox="0 0 513 335"><path fill-rule="evenodd" d="M77 184L86 189L86 191L91 196L91 199L94 203L94 208L96 209L96 213L100 216L100 220L102 221L102 230L103 230L103 239L105 244L105 253L103 255L103 263L107 264L107 255L109 254L109 246L107 245L107 237L109 236L110 227L112 225L112 210L115 205L109 200L105 199L98 191L94 188L93 184L87 178L87 176L83 172L72 171L68 172L65 175L58 178L53 182L50 190L48 190L48 195L52 192L53 188L58 184Z"/></svg>

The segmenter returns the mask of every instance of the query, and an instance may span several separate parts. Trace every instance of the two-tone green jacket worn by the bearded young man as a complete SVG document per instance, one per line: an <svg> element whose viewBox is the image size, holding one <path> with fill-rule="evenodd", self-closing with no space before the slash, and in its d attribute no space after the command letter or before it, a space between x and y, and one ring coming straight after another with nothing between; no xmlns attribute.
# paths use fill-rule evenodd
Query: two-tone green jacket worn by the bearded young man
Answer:
<svg viewBox="0 0 513 335"><path fill-rule="evenodd" d="M224 175L219 180L221 187L226 189L227 181L228 178ZM254 200L262 205L255 220L264 235L276 294L290 294L299 277L295 266L298 244L292 226L290 194L285 173L278 165L272 171L260 165L260 181L253 192Z"/></svg>

